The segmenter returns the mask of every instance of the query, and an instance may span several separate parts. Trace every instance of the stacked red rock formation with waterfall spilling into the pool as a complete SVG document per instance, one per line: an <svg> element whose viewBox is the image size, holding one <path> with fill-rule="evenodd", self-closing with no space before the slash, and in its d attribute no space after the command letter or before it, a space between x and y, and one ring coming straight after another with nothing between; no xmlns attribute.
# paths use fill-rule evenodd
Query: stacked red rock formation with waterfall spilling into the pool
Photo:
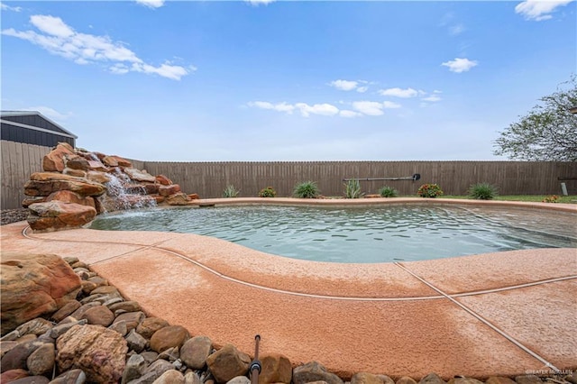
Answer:
<svg viewBox="0 0 577 384"><path fill-rule="evenodd" d="M134 169L129 160L64 142L44 156L42 169L24 185L28 198L23 206L30 210L28 223L34 231L77 228L119 209L184 206L197 197L183 193L163 175Z"/></svg>

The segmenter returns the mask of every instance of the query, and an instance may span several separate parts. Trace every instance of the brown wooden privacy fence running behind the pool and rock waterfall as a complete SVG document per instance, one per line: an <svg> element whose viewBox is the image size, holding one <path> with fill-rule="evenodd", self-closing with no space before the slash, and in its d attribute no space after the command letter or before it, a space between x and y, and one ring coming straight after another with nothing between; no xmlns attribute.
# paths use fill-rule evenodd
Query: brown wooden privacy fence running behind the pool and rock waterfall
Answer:
<svg viewBox="0 0 577 384"><path fill-rule="evenodd" d="M49 147L2 141L2 209L21 206L23 185L41 171ZM501 195L560 195L564 182L577 195L576 162L530 161L271 161L271 162L162 162L132 160L133 167L152 175L165 175L183 191L200 197L221 197L227 185L241 197L258 196L273 187L279 197L292 195L296 184L316 181L325 196L343 196L344 178L409 178L413 180L362 180L362 191L376 194L389 186L400 195L415 196L425 183L436 183L445 195L464 195L475 183L499 187ZM559 178L565 178L560 180Z"/></svg>

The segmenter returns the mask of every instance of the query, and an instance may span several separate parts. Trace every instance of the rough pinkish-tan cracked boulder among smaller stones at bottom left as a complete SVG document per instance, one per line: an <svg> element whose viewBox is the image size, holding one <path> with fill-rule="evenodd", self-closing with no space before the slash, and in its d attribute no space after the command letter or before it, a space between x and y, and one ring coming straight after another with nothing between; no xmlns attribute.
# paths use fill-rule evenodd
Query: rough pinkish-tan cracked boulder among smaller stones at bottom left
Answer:
<svg viewBox="0 0 577 384"><path fill-rule="evenodd" d="M87 381L117 383L123 376L128 344L102 325L74 325L56 341L60 371L81 369Z"/></svg>

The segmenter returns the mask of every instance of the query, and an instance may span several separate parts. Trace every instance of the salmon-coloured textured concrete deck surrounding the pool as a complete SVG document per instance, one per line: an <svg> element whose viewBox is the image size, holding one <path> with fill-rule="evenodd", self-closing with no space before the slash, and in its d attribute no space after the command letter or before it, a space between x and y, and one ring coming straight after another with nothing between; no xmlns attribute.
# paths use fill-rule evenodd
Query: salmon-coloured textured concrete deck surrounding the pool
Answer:
<svg viewBox="0 0 577 384"><path fill-rule="evenodd" d="M577 214L575 205L501 203ZM2 251L76 256L147 314L207 335L217 346L233 343L251 354L254 335L261 334L261 353L282 353L294 365L319 361L344 378L368 371L417 380L430 372L484 379L577 369L576 249L338 264L194 234L32 233L25 222L0 229Z"/></svg>

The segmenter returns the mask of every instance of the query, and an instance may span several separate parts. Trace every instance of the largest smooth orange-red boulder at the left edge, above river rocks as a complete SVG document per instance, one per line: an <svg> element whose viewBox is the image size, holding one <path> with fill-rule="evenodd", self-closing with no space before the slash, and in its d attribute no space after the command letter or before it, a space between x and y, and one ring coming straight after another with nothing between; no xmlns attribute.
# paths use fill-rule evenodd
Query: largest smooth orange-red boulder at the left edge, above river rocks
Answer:
<svg viewBox="0 0 577 384"><path fill-rule="evenodd" d="M59 256L2 252L1 257L2 334L77 297L80 279Z"/></svg>

